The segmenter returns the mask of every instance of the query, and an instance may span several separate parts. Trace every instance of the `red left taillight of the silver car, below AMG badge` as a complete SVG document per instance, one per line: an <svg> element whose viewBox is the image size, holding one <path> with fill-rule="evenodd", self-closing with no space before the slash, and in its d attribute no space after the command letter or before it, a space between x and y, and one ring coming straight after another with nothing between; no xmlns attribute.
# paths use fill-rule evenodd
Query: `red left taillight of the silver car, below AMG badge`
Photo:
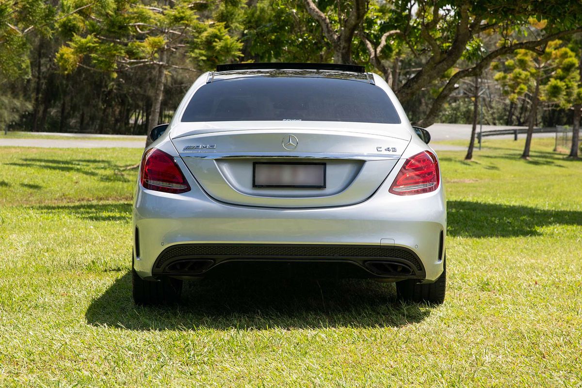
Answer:
<svg viewBox="0 0 582 388"><path fill-rule="evenodd" d="M141 159L141 186L164 193L186 193L190 185L172 156L157 148L148 149Z"/></svg>

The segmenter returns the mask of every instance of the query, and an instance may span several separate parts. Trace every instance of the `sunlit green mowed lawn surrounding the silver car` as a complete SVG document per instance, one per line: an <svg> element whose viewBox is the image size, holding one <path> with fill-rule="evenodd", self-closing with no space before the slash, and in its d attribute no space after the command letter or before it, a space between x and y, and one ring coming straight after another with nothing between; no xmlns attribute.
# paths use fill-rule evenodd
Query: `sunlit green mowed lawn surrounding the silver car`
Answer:
<svg viewBox="0 0 582 388"><path fill-rule="evenodd" d="M580 386L582 162L439 152L448 295L373 281L188 284L133 305L139 149L0 148L0 386Z"/></svg>

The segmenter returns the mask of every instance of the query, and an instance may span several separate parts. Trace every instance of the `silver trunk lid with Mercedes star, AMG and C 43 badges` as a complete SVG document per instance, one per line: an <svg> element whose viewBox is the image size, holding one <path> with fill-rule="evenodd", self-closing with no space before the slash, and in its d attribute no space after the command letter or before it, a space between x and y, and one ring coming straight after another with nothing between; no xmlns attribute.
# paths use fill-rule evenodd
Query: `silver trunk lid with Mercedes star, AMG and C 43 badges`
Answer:
<svg viewBox="0 0 582 388"><path fill-rule="evenodd" d="M310 208L369 198L398 162L410 133L402 124L223 122L180 123L171 138L192 175L216 200ZM254 163L272 162L325 163L325 187L254 187Z"/></svg>

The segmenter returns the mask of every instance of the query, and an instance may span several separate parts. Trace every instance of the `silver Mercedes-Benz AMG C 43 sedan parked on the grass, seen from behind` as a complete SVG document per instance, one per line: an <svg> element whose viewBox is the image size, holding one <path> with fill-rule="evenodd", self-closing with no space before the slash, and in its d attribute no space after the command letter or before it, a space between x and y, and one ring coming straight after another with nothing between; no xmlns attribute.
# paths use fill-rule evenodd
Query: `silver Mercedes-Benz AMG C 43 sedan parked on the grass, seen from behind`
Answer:
<svg viewBox="0 0 582 388"><path fill-rule="evenodd" d="M377 74L220 65L151 137L133 205L137 304L227 276L378 279L443 302L438 158Z"/></svg>

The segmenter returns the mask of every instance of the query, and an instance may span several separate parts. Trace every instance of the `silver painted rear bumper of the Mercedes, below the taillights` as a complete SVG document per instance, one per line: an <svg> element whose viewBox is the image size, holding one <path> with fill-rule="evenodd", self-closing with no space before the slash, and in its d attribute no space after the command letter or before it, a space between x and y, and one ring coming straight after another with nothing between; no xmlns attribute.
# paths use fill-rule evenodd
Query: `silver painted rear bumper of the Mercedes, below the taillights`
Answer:
<svg viewBox="0 0 582 388"><path fill-rule="evenodd" d="M190 186L188 193L166 194L138 184L133 222L134 233L139 230L134 239L134 252L139 255L134 267L141 277L178 276L166 270L169 262L156 267L164 254L172 261L180 257L212 261L203 273L191 276L210 275L229 262L297 261L349 262L353 277L367 273L368 277L405 278L374 276L368 261L402 263L413 269L409 278L429 282L442 273L446 233L442 185L433 193L410 197L390 194L388 185L382 185L360 204L310 209L229 205L208 197L195 180ZM168 254L171 248L193 246L224 248ZM328 249L321 251L322 247ZM402 252L409 252L420 265L404 259Z"/></svg>

